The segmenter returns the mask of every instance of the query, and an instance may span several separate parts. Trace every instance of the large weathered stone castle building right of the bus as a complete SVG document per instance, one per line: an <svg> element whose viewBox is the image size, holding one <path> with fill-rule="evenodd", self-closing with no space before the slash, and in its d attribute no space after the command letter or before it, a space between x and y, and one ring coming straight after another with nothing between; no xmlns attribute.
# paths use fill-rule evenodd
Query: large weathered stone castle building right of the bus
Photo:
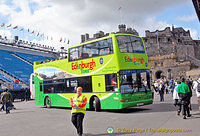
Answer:
<svg viewBox="0 0 200 136"><path fill-rule="evenodd" d="M161 31L147 30L145 34L143 39L153 80L179 79L188 76L186 72L200 67L200 41L193 40L189 30L172 26L172 30L166 27Z"/></svg>

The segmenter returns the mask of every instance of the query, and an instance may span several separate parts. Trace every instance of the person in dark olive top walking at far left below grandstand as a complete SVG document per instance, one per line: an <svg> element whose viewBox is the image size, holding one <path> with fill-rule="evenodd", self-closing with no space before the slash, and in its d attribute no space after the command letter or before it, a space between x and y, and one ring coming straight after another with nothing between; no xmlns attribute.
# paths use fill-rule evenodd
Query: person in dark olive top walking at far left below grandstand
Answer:
<svg viewBox="0 0 200 136"><path fill-rule="evenodd" d="M8 89L5 90L5 93L2 98L3 102L5 103L5 108L6 108L6 114L10 113L10 106L11 106L11 101L12 101L12 95L8 91Z"/></svg>

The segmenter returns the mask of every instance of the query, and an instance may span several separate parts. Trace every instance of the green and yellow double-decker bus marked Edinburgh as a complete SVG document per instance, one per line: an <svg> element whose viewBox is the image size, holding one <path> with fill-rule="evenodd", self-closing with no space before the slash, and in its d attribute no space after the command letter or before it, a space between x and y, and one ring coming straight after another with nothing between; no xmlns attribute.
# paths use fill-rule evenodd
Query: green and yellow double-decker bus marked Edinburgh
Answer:
<svg viewBox="0 0 200 136"><path fill-rule="evenodd" d="M87 97L86 108L91 110L152 104L142 38L110 34L69 47L66 59L34 63L36 105L70 107L79 86Z"/></svg>

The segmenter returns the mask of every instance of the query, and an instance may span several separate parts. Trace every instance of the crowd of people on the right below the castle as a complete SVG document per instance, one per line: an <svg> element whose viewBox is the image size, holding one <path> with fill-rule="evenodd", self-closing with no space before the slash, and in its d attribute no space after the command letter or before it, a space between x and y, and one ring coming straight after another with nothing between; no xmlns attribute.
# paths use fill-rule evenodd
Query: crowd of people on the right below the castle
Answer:
<svg viewBox="0 0 200 136"><path fill-rule="evenodd" d="M160 102L164 101L165 94L172 94L174 105L178 107L177 115L180 115L182 111L183 119L186 119L186 116L191 117L192 92L196 92L200 111L200 76L196 81L192 79L186 80L185 78L180 78L179 80L171 79L170 81L158 79L153 82L152 86L155 92L160 95Z"/></svg>

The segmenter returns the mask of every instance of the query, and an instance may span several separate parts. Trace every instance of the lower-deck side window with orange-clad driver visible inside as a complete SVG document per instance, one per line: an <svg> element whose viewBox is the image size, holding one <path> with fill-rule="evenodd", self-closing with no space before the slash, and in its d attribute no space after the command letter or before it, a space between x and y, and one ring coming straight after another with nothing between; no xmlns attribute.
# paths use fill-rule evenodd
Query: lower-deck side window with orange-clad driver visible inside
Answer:
<svg viewBox="0 0 200 136"><path fill-rule="evenodd" d="M117 74L108 74L105 75L105 82L106 82L106 91L118 91L117 85Z"/></svg>

